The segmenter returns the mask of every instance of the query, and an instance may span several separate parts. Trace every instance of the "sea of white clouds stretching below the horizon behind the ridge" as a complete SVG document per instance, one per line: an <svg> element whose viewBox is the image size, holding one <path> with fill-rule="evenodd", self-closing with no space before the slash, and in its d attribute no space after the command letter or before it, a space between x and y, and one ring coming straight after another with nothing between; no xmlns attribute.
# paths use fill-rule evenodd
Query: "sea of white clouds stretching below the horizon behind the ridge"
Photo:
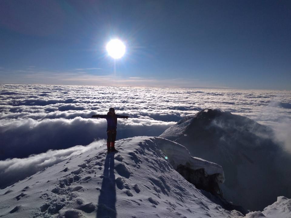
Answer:
<svg viewBox="0 0 291 218"><path fill-rule="evenodd" d="M219 108L273 128L291 151L291 91L0 84L0 99L0 177L23 165L0 188L81 152L78 145L104 146L106 120L91 116L109 107L130 117L118 119L117 140L159 136L182 117Z"/></svg>

